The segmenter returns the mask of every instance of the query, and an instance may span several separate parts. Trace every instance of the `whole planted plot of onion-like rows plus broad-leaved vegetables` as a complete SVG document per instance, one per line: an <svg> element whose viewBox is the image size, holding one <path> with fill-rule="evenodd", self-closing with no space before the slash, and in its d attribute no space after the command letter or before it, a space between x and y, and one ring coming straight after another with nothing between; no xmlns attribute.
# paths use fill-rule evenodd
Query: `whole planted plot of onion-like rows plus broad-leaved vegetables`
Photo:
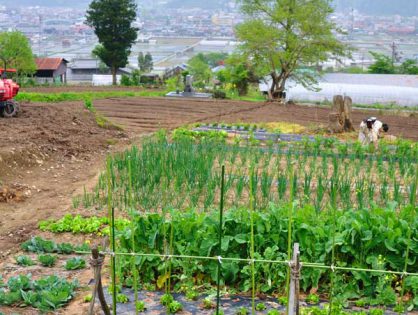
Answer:
<svg viewBox="0 0 418 315"><path fill-rule="evenodd" d="M170 295L218 283L253 298L283 295L290 246L299 242L301 289L329 298L332 308L353 300L414 308L416 186L416 164L399 159L294 156L204 139L169 143L160 134L109 159L82 202L130 217L111 233L114 299L123 286Z"/></svg>

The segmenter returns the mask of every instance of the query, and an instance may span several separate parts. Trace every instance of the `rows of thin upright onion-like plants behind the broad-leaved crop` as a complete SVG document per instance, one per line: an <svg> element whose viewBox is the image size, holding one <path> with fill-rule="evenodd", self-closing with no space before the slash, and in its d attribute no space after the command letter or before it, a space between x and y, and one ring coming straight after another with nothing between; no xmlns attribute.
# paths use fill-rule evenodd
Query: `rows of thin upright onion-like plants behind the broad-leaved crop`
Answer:
<svg viewBox="0 0 418 315"><path fill-rule="evenodd" d="M114 206L123 209L132 201L132 206L144 210L168 205L208 210L220 190L222 164L228 206L247 205L250 179L255 203L262 207L291 199L313 204L318 211L330 204L354 209L393 203L400 207L416 201L417 164L411 158L300 155L291 148L228 146L206 134L198 141L181 134L172 142L160 134L145 141L141 149L133 147L110 159ZM107 176L103 173L94 191L84 194L84 207L106 205Z"/></svg>

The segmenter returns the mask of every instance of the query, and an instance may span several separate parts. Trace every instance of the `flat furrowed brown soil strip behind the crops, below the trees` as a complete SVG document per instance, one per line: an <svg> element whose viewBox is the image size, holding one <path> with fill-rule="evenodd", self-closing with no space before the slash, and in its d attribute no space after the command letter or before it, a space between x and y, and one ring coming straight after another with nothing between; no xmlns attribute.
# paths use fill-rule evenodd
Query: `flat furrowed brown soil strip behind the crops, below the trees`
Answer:
<svg viewBox="0 0 418 315"><path fill-rule="evenodd" d="M194 122L277 122L303 126L326 126L330 109L275 103L253 103L225 100L131 98L106 99L94 106L112 121L131 133L174 128ZM355 126L368 116L378 116L390 126L390 134L418 140L418 117L413 114L380 114L377 111L354 110Z"/></svg>

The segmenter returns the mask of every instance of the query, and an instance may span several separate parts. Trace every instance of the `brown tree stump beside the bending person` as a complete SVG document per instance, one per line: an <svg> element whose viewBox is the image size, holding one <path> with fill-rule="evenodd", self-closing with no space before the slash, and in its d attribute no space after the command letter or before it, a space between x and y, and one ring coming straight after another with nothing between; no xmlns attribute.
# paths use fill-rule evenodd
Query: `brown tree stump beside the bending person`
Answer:
<svg viewBox="0 0 418 315"><path fill-rule="evenodd" d="M354 131L351 118L352 100L349 96L335 95L328 116L329 129L333 133Z"/></svg>

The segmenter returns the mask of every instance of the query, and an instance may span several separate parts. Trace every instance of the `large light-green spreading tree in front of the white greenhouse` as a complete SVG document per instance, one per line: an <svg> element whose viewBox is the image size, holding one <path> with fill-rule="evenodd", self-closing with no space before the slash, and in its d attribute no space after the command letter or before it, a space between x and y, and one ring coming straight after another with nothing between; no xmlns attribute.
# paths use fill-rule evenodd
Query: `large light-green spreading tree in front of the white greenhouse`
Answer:
<svg viewBox="0 0 418 315"><path fill-rule="evenodd" d="M283 95L290 78L314 88L315 71L303 68L348 55L347 47L335 37L339 29L329 19L333 9L328 0L240 2L247 18L236 28L240 48L256 65L258 75L271 77L271 99Z"/></svg>

